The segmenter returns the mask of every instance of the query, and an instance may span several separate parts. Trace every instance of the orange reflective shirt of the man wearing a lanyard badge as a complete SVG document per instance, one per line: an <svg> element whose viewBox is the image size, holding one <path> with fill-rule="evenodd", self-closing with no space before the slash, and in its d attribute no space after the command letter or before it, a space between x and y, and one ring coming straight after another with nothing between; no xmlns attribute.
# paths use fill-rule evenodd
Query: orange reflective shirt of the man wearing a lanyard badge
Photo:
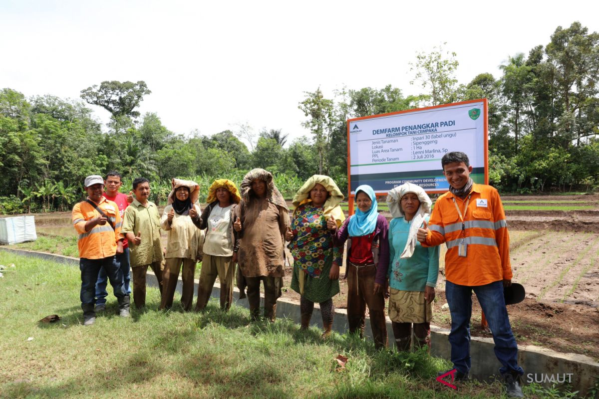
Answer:
<svg viewBox="0 0 599 399"><path fill-rule="evenodd" d="M453 199L464 217L463 231ZM512 279L510 237L499 193L490 185L474 184L464 212L467 201L468 197L462 200L450 192L440 196L422 246L446 244L445 278L453 284L474 286ZM462 239L467 244L466 257L458 256Z"/></svg>

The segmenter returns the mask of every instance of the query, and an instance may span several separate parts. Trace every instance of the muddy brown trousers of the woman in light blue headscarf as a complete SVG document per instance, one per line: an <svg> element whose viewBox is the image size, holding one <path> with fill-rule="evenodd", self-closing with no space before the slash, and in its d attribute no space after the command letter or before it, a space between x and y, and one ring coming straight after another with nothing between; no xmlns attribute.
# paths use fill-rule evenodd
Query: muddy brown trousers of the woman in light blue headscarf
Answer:
<svg viewBox="0 0 599 399"><path fill-rule="evenodd" d="M377 348L387 346L387 325L385 319L385 297L374 294L374 265L347 263L347 323L349 332L359 331L364 336L366 306L370 313L370 327L373 330L374 345Z"/></svg>

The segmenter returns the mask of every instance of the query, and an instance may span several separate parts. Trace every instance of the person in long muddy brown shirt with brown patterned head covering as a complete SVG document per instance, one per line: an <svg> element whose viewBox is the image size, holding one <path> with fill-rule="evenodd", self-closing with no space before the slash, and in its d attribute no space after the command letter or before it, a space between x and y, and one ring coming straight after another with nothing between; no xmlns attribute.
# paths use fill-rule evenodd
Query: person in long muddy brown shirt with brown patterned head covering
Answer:
<svg viewBox="0 0 599 399"><path fill-rule="evenodd" d="M274 187L270 172L252 169L244 176L236 216L233 226L240 238L238 262L246 279L250 315L252 320L258 319L263 281L264 316L274 321L285 275L283 245L289 228L289 208Z"/></svg>

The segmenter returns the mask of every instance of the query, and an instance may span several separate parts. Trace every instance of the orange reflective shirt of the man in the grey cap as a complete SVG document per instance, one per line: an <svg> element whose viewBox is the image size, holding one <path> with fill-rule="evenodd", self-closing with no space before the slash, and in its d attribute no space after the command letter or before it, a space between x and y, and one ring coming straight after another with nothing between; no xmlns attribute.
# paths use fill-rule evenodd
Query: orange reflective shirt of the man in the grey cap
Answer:
<svg viewBox="0 0 599 399"><path fill-rule="evenodd" d="M116 254L117 242L123 239L120 233L122 221L120 220L119 207L116 203L102 197L98 208L110 218L115 229L106 223L104 226L96 224L89 232L85 231L85 224L90 219L99 217L100 214L89 203L82 201L75 204L72 211L72 221L75 230L79 233L77 246L79 248L79 257L86 259L101 259Z"/></svg>

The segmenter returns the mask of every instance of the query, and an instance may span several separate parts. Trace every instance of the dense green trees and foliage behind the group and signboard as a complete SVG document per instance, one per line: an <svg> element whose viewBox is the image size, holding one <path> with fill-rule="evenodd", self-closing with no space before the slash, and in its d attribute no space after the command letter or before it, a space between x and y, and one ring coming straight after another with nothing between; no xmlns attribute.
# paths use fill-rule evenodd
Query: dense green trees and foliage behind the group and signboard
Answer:
<svg viewBox="0 0 599 399"><path fill-rule="evenodd" d="M286 143L280 130L238 126L210 136L178 135L158 115L135 108L149 95L146 83L105 81L82 90L81 98L111 112L103 132L83 103L54 96L25 98L0 90L0 213L66 210L83 197L86 175L119 170L130 182L152 181L161 202L174 176L201 180L263 167L277 175L286 197L314 173L347 187L346 120L419 106L487 98L489 178L503 191L594 190L599 185L599 33L574 22L558 27L547 45L510 56L490 73L458 84L455 53L435 48L416 54L416 87L404 96L391 85L335 92L305 92L298 108L310 136ZM257 138L257 140L256 140ZM247 142L244 143L243 141ZM288 144L288 145L287 145ZM284 146L285 145L285 146ZM248 150L251 148L251 151ZM285 181L285 182L283 182ZM124 184L122 190L128 191Z"/></svg>

